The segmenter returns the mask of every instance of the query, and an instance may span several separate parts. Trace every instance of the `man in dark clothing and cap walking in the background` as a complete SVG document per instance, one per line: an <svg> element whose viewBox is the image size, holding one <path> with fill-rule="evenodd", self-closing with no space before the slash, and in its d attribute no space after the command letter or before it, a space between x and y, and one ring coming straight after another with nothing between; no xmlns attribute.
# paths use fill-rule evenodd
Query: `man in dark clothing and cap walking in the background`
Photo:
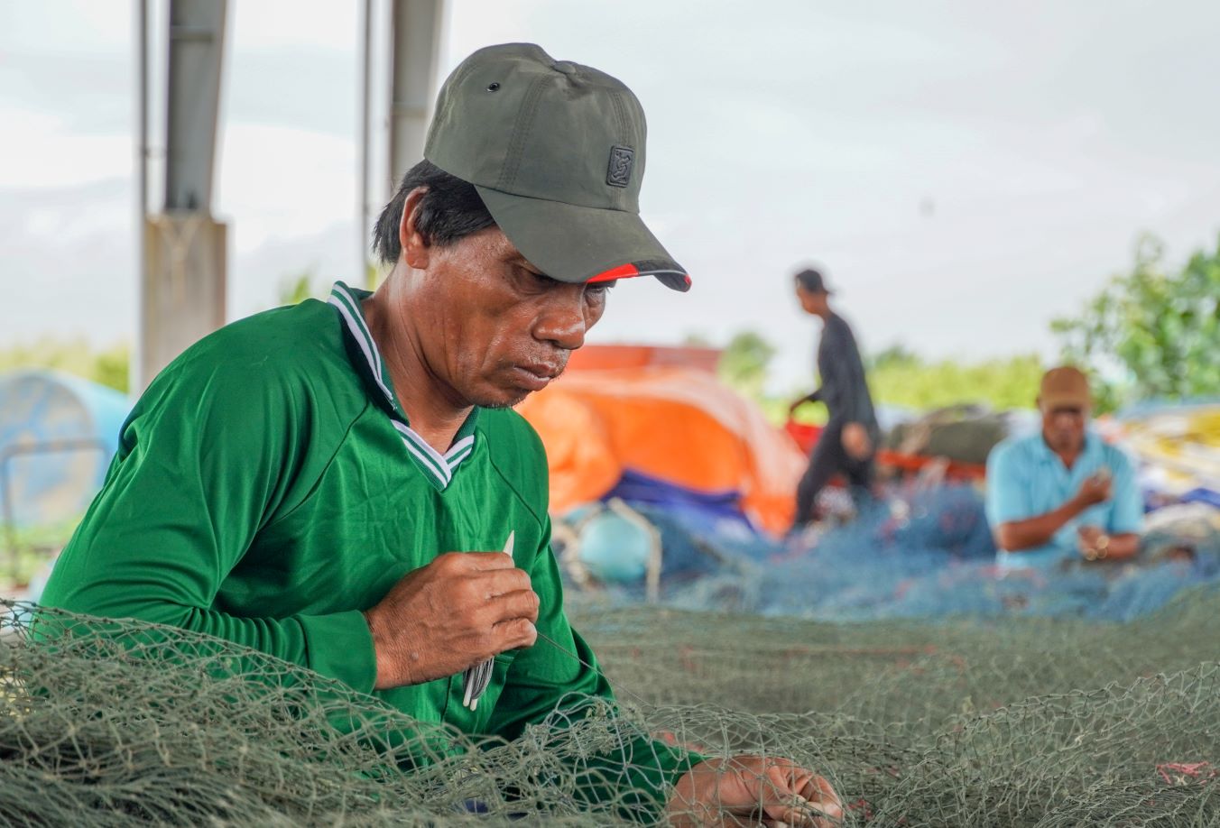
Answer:
<svg viewBox="0 0 1220 828"><path fill-rule="evenodd" d="M813 268L797 273L797 299L806 313L822 318L822 339L817 346L817 372L822 385L792 404L792 411L804 402L825 402L830 421L814 446L809 469L797 487L797 517L800 529L815 518L817 493L834 472L842 472L860 502L872 483L872 457L880 430L872 410L872 398L864 379L864 362L855 337L843 317L831 310L830 290L822 274Z"/></svg>

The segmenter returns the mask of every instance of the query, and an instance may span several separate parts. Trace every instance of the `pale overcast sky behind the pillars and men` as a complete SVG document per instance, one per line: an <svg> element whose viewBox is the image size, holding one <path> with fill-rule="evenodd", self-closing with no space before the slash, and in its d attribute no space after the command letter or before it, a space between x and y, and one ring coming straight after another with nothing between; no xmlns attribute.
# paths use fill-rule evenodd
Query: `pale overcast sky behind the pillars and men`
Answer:
<svg viewBox="0 0 1220 828"><path fill-rule="evenodd" d="M357 7L229 4L231 318L305 268L360 278ZM0 346L134 334L133 9L0 0ZM755 328L787 388L816 341L804 262L866 348L981 359L1053 354L1048 321L1141 232L1175 261L1214 248L1218 33L1203 0L453 0L440 70L531 40L622 78L649 121L644 217L695 285L623 283L590 341Z"/></svg>

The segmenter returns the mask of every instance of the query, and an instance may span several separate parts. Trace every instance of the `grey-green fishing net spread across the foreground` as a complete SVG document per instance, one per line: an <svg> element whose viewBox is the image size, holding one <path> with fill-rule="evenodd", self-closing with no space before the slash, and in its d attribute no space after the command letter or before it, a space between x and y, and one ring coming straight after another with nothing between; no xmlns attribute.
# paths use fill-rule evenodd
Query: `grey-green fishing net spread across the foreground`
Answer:
<svg viewBox="0 0 1220 828"><path fill-rule="evenodd" d="M592 758L640 734L794 758L845 824L1220 824L1216 589L1127 624L586 609L620 710L512 743L216 639L2 610L0 824L647 821L632 768Z"/></svg>

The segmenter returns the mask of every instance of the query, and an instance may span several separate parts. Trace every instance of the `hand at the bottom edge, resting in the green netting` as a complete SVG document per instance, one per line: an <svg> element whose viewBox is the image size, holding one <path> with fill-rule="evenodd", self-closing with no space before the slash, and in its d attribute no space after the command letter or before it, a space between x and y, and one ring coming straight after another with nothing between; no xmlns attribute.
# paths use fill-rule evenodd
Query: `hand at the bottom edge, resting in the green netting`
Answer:
<svg viewBox="0 0 1220 828"><path fill-rule="evenodd" d="M814 826L843 822L843 804L822 777L786 758L710 758L673 787L666 810L675 828Z"/></svg>

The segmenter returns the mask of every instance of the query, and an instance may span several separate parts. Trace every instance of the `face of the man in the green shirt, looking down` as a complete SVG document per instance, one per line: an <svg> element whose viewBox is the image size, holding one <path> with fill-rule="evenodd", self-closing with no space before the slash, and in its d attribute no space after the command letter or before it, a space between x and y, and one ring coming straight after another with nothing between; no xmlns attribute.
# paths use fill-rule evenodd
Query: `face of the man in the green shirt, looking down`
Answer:
<svg viewBox="0 0 1220 828"><path fill-rule="evenodd" d="M543 276L498 227L432 246L428 259L412 277L412 327L423 363L459 405L512 406L545 388L601 318L611 287Z"/></svg>

